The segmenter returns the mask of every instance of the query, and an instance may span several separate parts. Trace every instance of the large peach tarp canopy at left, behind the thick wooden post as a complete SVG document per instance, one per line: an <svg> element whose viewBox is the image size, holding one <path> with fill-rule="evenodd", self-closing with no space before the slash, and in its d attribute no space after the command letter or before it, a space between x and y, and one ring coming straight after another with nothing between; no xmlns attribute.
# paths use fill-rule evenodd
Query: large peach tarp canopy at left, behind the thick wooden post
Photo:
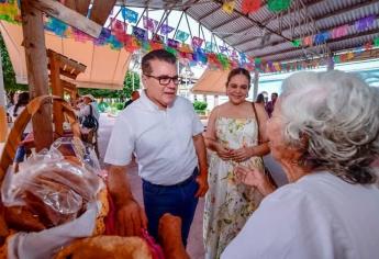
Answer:
<svg viewBox="0 0 379 259"><path fill-rule="evenodd" d="M21 46L22 26L1 21L0 32L5 42L16 81L27 83L25 52ZM124 48L114 50L107 45L97 46L91 41L77 42L73 37L59 37L47 31L45 31L45 43L46 49L53 49L87 66L85 72L79 74L76 80L71 80L78 88L122 89L132 58L132 54Z"/></svg>

